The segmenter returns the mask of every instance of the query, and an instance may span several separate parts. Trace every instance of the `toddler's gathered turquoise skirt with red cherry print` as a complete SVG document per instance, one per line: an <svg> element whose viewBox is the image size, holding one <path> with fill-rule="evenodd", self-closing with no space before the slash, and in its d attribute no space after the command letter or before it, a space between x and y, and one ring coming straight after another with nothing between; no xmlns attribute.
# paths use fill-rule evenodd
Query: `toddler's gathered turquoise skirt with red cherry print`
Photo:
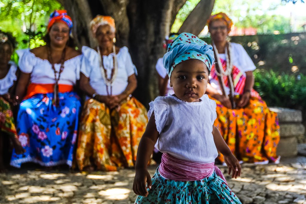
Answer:
<svg viewBox="0 0 306 204"><path fill-rule="evenodd" d="M147 197L138 196L135 204L241 204L230 187L214 172L196 181L175 181L163 178L158 169L152 177Z"/></svg>

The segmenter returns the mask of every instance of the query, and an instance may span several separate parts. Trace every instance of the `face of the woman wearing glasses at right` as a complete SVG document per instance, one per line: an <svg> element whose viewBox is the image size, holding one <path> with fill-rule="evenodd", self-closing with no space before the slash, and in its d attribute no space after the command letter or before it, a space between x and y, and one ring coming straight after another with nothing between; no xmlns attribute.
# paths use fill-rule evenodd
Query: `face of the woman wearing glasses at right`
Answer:
<svg viewBox="0 0 306 204"><path fill-rule="evenodd" d="M228 30L224 20L214 20L209 28L211 38L214 42L224 42L228 35Z"/></svg>

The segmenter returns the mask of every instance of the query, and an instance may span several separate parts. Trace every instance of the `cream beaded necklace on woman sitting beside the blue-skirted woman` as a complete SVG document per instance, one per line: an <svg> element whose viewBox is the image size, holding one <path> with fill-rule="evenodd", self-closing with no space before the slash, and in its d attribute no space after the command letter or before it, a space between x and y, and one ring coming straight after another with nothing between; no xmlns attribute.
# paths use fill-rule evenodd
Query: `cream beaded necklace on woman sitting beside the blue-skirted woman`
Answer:
<svg viewBox="0 0 306 204"><path fill-rule="evenodd" d="M113 45L113 68L111 69L111 75L110 78L107 77L107 69L104 68L103 65L103 56L101 56L100 53L100 48L97 46L97 51L99 54L99 61L100 61L100 70L101 70L101 75L104 80L104 83L106 84L106 91L107 95L111 96L113 93L113 83L117 77L117 72L118 72L118 62L117 62L117 55L116 55L116 48L115 45ZM110 93L108 91L108 87L110 86Z"/></svg>

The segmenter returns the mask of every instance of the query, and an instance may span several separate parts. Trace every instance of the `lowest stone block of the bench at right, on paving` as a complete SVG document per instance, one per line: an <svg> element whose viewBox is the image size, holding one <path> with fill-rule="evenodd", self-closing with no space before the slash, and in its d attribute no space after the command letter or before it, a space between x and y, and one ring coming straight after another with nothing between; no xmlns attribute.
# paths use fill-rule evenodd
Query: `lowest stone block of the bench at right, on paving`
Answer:
<svg viewBox="0 0 306 204"><path fill-rule="evenodd" d="M297 155L297 138L282 138L279 140L276 154L281 157L293 157Z"/></svg>

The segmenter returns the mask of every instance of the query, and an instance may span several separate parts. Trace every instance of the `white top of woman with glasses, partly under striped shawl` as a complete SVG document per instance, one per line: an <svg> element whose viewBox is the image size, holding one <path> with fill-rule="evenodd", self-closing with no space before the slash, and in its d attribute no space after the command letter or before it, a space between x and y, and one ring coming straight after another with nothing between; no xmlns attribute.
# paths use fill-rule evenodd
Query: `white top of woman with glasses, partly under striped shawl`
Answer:
<svg viewBox="0 0 306 204"><path fill-rule="evenodd" d="M244 50L243 46L238 43L231 43L232 45L232 62L233 65L236 66L245 76L245 72L248 71L254 71L256 69L256 66L254 65L252 59L248 56L248 53ZM219 54L220 59L223 59L226 61L225 54ZM209 83L212 87L217 89L219 94L222 94L221 87L219 85L218 80L212 79L211 76L209 76ZM230 88L225 87L225 93L227 95L230 94ZM236 93L238 95L238 93Z"/></svg>

